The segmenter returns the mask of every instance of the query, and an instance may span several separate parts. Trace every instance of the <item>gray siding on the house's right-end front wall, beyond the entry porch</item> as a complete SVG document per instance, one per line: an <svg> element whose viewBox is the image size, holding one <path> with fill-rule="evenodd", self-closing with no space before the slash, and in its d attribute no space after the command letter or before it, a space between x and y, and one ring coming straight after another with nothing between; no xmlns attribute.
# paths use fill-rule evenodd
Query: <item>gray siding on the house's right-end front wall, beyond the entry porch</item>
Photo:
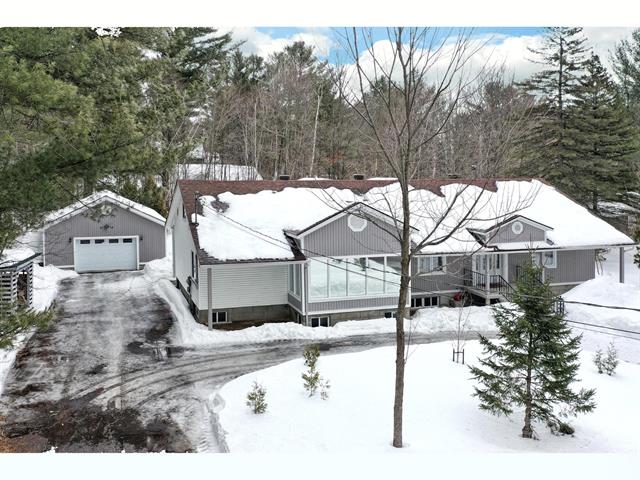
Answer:
<svg viewBox="0 0 640 480"><path fill-rule="evenodd" d="M509 254L509 282L515 283L518 266L529 260L529 253ZM581 283L595 277L595 250L558 250L557 267L545 268L544 276L551 283Z"/></svg>

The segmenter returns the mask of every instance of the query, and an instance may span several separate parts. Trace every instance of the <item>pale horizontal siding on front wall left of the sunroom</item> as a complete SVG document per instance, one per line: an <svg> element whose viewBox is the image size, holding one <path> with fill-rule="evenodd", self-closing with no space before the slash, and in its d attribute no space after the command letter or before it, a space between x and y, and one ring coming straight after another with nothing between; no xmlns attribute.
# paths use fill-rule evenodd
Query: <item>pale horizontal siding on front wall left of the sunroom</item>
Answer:
<svg viewBox="0 0 640 480"><path fill-rule="evenodd" d="M200 267L201 310L208 308L207 269L211 269L213 309L286 305L288 265L221 264Z"/></svg>

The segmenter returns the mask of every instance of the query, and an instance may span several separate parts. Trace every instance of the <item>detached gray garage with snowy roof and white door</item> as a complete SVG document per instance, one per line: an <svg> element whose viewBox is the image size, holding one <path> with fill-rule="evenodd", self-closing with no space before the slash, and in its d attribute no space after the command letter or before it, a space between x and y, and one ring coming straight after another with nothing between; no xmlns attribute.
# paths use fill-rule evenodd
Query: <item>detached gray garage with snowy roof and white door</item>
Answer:
<svg viewBox="0 0 640 480"><path fill-rule="evenodd" d="M165 256L165 219L155 210L102 190L50 213L28 245L44 265L77 272L137 270Z"/></svg>

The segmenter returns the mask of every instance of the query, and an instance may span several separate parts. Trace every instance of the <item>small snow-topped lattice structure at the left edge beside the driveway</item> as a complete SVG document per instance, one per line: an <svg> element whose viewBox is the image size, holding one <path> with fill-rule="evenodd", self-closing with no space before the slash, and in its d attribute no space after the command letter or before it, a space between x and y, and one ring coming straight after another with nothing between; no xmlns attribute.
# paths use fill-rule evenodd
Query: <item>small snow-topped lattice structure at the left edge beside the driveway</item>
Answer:
<svg viewBox="0 0 640 480"><path fill-rule="evenodd" d="M10 248L0 256L0 312L33 305L33 262L39 257L29 248Z"/></svg>

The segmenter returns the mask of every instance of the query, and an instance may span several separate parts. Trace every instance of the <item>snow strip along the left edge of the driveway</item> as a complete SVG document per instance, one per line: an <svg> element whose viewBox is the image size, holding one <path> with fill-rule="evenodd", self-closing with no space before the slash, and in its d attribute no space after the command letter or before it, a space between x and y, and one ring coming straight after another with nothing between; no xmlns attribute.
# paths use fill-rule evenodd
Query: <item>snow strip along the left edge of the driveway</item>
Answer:
<svg viewBox="0 0 640 480"><path fill-rule="evenodd" d="M33 253L33 252L32 252ZM33 266L33 308L38 311L46 310L58 293L58 283L65 279L75 277L78 274L72 270L61 270L48 265L41 267L37 264ZM13 365L18 350L22 348L31 333L18 335L11 348L0 348L0 395L4 385L4 380Z"/></svg>

